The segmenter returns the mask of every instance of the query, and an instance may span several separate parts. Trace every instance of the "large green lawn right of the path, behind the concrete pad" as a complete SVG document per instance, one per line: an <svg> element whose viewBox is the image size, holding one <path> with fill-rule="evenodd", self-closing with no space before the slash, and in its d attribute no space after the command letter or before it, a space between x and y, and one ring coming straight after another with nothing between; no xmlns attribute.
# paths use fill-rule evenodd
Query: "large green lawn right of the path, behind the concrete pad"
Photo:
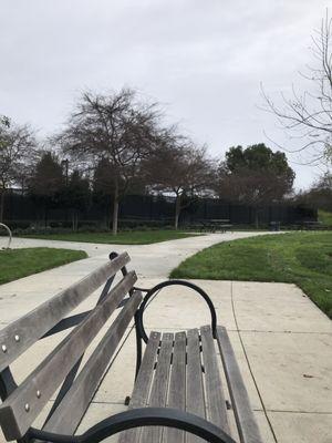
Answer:
<svg viewBox="0 0 332 443"><path fill-rule="evenodd" d="M332 233L221 243L183 261L170 277L295 284L332 318Z"/></svg>

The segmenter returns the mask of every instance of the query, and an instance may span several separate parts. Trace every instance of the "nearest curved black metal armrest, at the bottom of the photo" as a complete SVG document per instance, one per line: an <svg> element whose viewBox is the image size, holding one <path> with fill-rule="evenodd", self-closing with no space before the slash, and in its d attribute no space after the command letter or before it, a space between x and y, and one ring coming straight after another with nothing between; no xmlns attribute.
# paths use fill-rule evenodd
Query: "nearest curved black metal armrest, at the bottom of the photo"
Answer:
<svg viewBox="0 0 332 443"><path fill-rule="evenodd" d="M82 435L53 434L32 427L29 437L53 443L98 443L118 432L139 426L176 427L210 443L236 443L207 420L169 408L142 408L121 412L97 423Z"/></svg>

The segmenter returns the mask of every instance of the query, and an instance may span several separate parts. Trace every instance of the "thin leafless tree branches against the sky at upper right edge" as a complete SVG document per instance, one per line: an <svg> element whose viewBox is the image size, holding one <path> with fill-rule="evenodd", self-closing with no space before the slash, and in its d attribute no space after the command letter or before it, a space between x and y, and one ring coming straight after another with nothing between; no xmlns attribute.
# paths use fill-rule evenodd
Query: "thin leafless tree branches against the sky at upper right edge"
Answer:
<svg viewBox="0 0 332 443"><path fill-rule="evenodd" d="M305 152L309 163L332 159L332 21L328 11L319 31L312 37L311 52L314 64L301 75L308 81L308 90L292 96L282 92L282 105L278 106L262 89L264 109L277 115L291 138L300 140L300 146L289 152Z"/></svg>

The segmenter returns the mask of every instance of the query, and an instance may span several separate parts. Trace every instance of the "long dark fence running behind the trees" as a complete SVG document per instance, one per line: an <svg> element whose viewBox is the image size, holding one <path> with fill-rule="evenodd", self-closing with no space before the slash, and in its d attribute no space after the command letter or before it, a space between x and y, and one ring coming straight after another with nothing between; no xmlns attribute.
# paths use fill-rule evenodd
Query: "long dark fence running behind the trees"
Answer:
<svg viewBox="0 0 332 443"><path fill-rule="evenodd" d="M27 227L30 224L70 224L71 208L45 207L38 205L31 197L14 192L8 193L4 199L4 223ZM80 225L110 224L111 202L97 204L92 202L79 212ZM172 225L175 213L175 198L151 195L128 195L120 204L120 220L133 224L158 223ZM237 205L220 199L197 198L188 203L181 210L180 224L190 225L207 219L229 219L234 225L252 225L258 217L260 224L280 222L292 225L308 220L317 220L317 209L294 205L270 205L251 207Z"/></svg>

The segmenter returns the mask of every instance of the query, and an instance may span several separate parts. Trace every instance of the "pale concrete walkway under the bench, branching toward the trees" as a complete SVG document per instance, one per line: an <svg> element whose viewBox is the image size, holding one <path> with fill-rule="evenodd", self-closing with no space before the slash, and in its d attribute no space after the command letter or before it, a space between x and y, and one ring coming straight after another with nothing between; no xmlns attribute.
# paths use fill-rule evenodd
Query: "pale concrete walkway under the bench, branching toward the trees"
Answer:
<svg viewBox="0 0 332 443"><path fill-rule="evenodd" d="M14 239L13 247L84 249L90 258L0 286L0 321L4 327L82 278L104 262L110 250L128 250L132 267L138 271L138 284L149 287L165 279L170 269L197 250L251 235L212 234L146 246ZM211 296L218 322L229 331L263 441L332 443L332 322L294 285L195 282ZM82 309L89 303L93 305L93 297ZM193 292L183 289L178 292L174 287L160 292L145 316L148 330L183 330L208 322L204 302L193 297ZM14 365L18 380L61 339L44 340L22 356ZM129 329L79 432L125 409L123 402L131 394L134 368L135 339Z"/></svg>

